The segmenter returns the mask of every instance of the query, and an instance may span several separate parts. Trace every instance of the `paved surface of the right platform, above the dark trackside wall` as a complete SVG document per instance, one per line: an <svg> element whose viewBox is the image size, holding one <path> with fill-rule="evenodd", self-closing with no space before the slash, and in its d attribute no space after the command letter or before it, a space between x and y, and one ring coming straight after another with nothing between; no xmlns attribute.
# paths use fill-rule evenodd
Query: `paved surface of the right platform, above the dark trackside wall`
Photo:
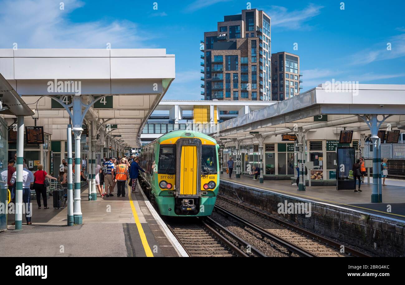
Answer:
<svg viewBox="0 0 405 285"><path fill-rule="evenodd" d="M361 185L362 192L354 190L336 190L336 186L312 186L306 187L306 191L297 191L297 186L292 185L290 180L252 180L252 177L241 175L241 178L229 178L229 174L221 174L222 181L240 183L242 185L288 194L309 200L335 204L342 207L352 208L371 214L383 215L405 221L405 180L386 179L387 186L382 188L383 203L371 203L372 182L367 185L367 177ZM387 212L387 205L391 206L391 212Z"/></svg>

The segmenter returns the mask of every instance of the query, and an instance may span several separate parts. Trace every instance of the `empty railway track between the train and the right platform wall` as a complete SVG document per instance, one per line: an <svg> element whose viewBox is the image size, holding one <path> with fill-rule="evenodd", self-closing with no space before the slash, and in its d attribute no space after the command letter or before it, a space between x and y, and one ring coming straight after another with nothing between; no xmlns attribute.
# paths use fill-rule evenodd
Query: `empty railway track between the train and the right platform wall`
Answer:
<svg viewBox="0 0 405 285"><path fill-rule="evenodd" d="M341 253L341 245L312 232L296 227L286 221L262 213L250 206L239 204L224 196L217 196L215 211L244 223L247 227L260 232L289 251L300 256L312 257L369 257L350 247Z"/></svg>

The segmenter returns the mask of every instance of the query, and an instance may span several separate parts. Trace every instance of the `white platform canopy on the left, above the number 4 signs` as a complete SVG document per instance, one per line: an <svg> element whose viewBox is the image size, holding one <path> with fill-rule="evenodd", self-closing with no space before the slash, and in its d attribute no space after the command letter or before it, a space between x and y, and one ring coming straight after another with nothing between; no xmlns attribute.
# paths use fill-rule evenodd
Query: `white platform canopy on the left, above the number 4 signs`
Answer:
<svg viewBox="0 0 405 285"><path fill-rule="evenodd" d="M69 115L51 96L68 103L81 95L88 104L107 95L85 122L97 121L123 144L140 147L143 125L175 79L175 55L166 49L0 49L0 73L54 129L66 130Z"/></svg>

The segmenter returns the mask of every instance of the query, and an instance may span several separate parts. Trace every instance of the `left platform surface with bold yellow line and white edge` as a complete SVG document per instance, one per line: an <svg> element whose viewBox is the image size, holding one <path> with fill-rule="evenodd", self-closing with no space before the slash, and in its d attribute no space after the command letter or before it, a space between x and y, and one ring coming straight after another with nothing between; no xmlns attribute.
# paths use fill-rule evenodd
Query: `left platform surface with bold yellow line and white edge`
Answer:
<svg viewBox="0 0 405 285"><path fill-rule="evenodd" d="M139 186L139 185L138 185ZM140 187L126 196L88 201L88 187L81 189L83 224L67 226L67 207L38 209L32 202L32 225L14 230L14 215L8 216L8 230L0 233L0 255L4 257L178 257L184 249L151 206ZM41 200L42 202L42 200Z"/></svg>

